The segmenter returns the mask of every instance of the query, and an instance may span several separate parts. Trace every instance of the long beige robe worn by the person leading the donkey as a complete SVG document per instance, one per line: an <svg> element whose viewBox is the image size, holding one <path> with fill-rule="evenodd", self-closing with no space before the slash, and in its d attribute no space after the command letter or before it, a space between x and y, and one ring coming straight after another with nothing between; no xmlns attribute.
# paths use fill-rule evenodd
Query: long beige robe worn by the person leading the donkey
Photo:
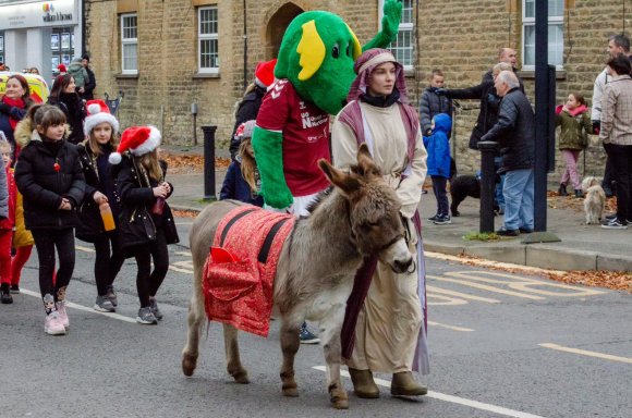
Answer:
<svg viewBox="0 0 632 418"><path fill-rule="evenodd" d="M406 132L399 108L376 108L364 102L360 106L373 138L373 149L369 147L369 150L385 180L401 200L401 212L409 222L408 230L412 235L409 249L416 259L417 235L411 218L420 204L427 172L427 152L422 134L417 132L412 164L406 171L406 179L401 180L401 174L409 167L409 158ZM331 131L331 147L336 167L348 169L356 162L355 135L338 120ZM417 287L416 271L396 274L390 267L378 262L355 327L355 346L347 361L349 367L387 373L412 370L423 322Z"/></svg>

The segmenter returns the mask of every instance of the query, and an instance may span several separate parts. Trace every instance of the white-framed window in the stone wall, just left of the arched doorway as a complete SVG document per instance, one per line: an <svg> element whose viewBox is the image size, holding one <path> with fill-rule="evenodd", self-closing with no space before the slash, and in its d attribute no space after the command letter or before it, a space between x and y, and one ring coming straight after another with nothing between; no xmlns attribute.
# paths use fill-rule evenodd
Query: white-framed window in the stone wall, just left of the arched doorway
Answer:
<svg viewBox="0 0 632 418"><path fill-rule="evenodd" d="M217 7L197 10L197 50L200 73L219 72Z"/></svg>

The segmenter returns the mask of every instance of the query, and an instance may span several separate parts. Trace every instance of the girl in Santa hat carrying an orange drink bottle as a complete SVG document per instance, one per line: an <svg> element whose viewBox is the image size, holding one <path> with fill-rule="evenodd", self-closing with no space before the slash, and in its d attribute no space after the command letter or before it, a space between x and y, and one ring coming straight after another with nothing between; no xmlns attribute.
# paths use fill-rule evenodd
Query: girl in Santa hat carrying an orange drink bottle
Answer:
<svg viewBox="0 0 632 418"><path fill-rule="evenodd" d="M112 283L125 260L117 229L119 197L108 161L114 151L118 134L119 121L110 113L108 106L102 100L89 100L84 122L87 139L77 145L86 179L86 194L78 210L80 223L75 235L95 246L97 299L94 309L99 312L116 311L118 299ZM111 213L110 224L102 219L102 211Z"/></svg>

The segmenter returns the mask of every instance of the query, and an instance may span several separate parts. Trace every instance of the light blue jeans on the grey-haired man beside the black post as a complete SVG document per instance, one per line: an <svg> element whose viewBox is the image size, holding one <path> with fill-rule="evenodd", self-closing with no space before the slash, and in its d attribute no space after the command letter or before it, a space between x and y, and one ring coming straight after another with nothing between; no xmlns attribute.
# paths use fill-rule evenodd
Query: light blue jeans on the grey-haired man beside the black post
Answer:
<svg viewBox="0 0 632 418"><path fill-rule="evenodd" d="M533 230L533 169L505 173L505 229Z"/></svg>

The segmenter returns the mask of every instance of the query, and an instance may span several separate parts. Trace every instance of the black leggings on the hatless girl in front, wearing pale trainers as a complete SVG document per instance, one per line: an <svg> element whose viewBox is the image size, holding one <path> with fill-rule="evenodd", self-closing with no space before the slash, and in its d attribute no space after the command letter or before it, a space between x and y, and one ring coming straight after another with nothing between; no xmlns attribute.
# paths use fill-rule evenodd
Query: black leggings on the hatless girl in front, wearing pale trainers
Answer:
<svg viewBox="0 0 632 418"><path fill-rule="evenodd" d="M54 300L65 299L65 287L70 283L74 270L74 230L34 229L33 239L39 258L39 291L41 297L50 294ZM59 255L59 270L54 284L52 273L54 271L54 248ZM59 291L62 291L61 293ZM59 297L61 296L61 297Z"/></svg>

